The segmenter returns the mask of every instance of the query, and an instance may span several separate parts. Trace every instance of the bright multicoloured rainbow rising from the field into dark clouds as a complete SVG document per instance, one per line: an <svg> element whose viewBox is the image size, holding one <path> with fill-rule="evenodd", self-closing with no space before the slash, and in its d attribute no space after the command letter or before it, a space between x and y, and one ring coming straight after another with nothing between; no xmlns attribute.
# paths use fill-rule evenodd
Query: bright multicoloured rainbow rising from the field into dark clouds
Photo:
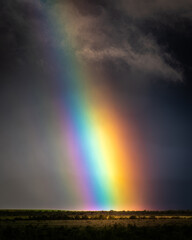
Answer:
<svg viewBox="0 0 192 240"><path fill-rule="evenodd" d="M62 47L43 54L54 67L52 81L58 91L52 116L60 146L55 147L53 160L67 182L64 194L76 198L74 209L78 210L142 209L137 194L141 170L131 125L118 110L112 92L93 84L91 70L76 57L64 24L70 18L62 10L50 14L44 9L53 45L63 42ZM69 173L64 176L66 168Z"/></svg>

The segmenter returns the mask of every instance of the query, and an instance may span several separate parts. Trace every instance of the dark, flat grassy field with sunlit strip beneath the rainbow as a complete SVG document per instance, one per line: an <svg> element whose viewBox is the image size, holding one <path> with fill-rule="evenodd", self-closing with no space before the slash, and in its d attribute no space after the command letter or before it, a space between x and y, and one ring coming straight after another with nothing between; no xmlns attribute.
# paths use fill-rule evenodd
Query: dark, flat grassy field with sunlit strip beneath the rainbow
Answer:
<svg viewBox="0 0 192 240"><path fill-rule="evenodd" d="M192 211L0 210L0 239L192 239Z"/></svg>

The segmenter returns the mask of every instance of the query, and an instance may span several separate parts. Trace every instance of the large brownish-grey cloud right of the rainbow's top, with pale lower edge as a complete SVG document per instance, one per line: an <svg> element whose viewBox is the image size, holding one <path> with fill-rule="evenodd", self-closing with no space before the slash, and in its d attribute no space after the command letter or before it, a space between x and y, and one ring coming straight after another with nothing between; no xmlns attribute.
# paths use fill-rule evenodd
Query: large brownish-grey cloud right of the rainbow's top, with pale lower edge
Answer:
<svg viewBox="0 0 192 240"><path fill-rule="evenodd" d="M157 43L156 36L145 34L133 18L140 4L140 1L131 2L131 11L126 1L57 1L56 10L64 6L63 11L72 16L69 26L66 23L68 33L78 41L77 55L88 64L103 67L108 61L116 66L123 62L131 73L182 80L179 62ZM126 11L126 7L131 12Z"/></svg>

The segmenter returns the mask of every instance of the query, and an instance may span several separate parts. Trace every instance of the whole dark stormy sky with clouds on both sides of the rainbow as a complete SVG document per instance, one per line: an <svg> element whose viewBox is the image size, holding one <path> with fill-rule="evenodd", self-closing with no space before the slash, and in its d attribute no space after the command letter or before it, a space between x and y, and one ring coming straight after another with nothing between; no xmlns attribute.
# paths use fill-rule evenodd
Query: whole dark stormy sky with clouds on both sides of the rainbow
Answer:
<svg viewBox="0 0 192 240"><path fill-rule="evenodd" d="M0 208L75 204L67 183L55 177L59 159L47 147L61 151L56 135L50 139L57 67L46 53L65 41L50 34L45 12L63 14L75 57L99 76L90 81L109 86L135 122L153 191L146 207L191 209L190 0L1 1Z"/></svg>

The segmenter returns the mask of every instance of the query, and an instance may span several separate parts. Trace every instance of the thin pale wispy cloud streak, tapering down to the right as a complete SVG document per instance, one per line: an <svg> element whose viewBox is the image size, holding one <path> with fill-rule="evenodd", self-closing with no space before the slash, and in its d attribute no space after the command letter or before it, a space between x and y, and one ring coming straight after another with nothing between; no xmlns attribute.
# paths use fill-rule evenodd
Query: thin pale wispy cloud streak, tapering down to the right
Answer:
<svg viewBox="0 0 192 240"><path fill-rule="evenodd" d="M130 46L127 49L108 48L99 51L85 48L78 54L86 60L96 62L121 59L131 66L133 71L154 72L168 79L182 80L180 72L167 65L161 56L152 53L139 54Z"/></svg>

